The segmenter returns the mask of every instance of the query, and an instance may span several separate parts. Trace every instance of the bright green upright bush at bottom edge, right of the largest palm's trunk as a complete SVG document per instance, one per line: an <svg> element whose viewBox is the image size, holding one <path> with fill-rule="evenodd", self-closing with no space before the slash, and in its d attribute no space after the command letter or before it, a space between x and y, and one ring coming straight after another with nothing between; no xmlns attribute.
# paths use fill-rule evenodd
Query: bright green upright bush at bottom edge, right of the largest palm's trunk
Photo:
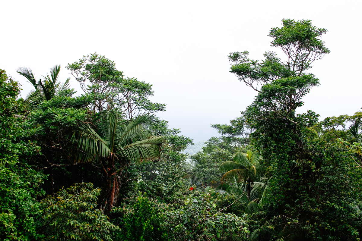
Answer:
<svg viewBox="0 0 362 241"><path fill-rule="evenodd" d="M138 195L132 206L114 208L113 223L121 230L115 235L115 240L124 241L157 241L165 240L167 231L161 228L164 220L160 210L155 207L145 195ZM118 216L115 218L115 216Z"/></svg>

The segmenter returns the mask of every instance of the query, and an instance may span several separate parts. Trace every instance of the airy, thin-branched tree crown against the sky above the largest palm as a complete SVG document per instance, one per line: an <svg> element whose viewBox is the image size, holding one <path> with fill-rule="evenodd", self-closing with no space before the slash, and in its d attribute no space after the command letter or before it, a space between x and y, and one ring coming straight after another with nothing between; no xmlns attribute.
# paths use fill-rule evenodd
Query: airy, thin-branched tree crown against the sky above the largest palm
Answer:
<svg viewBox="0 0 362 241"><path fill-rule="evenodd" d="M165 104L152 103L152 85L136 78L123 78L115 63L97 53L83 56L78 62L68 64L72 75L87 96L93 98L94 113L117 106L124 117L131 120L143 112L165 111Z"/></svg>

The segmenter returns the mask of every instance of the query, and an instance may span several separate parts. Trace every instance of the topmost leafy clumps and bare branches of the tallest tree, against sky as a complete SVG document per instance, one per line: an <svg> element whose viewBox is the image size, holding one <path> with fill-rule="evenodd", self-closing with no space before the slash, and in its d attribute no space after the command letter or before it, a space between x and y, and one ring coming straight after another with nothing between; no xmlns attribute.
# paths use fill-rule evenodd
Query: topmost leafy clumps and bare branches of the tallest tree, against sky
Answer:
<svg viewBox="0 0 362 241"><path fill-rule="evenodd" d="M283 63L274 52L265 52L262 62L248 59L248 51L232 52L227 56L232 64L230 72L254 90L260 91L263 85L276 79L288 81L288 77L303 76L315 60L329 53L320 39L326 29L313 26L310 20L283 19L282 22L283 27L272 28L269 36L273 38L271 46L281 48L287 55L286 62Z"/></svg>

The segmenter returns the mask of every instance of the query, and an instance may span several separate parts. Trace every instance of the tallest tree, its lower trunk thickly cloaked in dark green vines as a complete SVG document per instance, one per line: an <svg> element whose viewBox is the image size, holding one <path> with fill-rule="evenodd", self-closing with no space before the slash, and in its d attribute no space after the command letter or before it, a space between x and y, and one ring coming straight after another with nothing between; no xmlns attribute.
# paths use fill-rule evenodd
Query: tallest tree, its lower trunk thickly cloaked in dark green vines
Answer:
<svg viewBox="0 0 362 241"><path fill-rule="evenodd" d="M327 30L310 20L285 19L282 25L269 36L287 61L273 52L265 53L261 63L248 59L248 52L228 56L231 72L258 91L245 111L245 124L255 129L254 145L264 157L266 175L273 176L269 202L264 212L254 214L253 226L262 240L357 238L361 214L353 204L357 197L348 176L353 164L348 149L341 141L319 139L310 129L318 119L314 112L295 113L303 96L319 85L306 71L329 53L320 39Z"/></svg>

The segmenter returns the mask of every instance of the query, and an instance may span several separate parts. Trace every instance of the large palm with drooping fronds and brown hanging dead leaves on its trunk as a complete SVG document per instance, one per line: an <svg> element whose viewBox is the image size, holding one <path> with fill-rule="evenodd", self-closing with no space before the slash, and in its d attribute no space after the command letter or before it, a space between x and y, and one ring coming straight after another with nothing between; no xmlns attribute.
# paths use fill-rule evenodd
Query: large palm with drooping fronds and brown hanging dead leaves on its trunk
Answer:
<svg viewBox="0 0 362 241"><path fill-rule="evenodd" d="M141 115L129 122L117 110L97 114L96 130L80 126L72 136L78 144L76 162L100 164L105 174L98 207L109 213L116 204L122 171L130 164L148 162L160 156L163 137L151 136L153 115Z"/></svg>

